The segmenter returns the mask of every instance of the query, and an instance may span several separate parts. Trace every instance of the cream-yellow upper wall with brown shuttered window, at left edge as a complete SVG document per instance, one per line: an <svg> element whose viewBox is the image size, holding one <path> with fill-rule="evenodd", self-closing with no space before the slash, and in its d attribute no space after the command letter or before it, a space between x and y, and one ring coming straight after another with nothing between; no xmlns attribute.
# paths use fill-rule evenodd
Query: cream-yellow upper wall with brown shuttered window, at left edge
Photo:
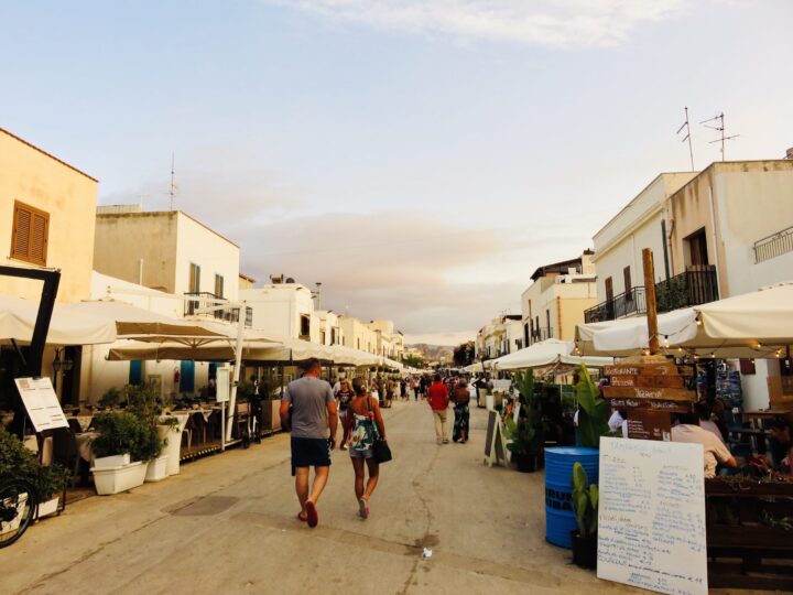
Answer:
<svg viewBox="0 0 793 595"><path fill-rule="evenodd" d="M0 129L3 264L61 269L57 300L87 300L97 186L88 174ZM37 300L41 283L0 277L0 293Z"/></svg>

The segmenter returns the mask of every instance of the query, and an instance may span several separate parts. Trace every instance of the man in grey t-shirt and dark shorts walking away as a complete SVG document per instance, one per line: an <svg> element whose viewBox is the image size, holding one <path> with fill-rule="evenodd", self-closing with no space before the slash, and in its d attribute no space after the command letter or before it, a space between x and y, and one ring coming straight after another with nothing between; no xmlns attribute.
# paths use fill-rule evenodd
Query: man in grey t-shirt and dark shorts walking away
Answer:
<svg viewBox="0 0 793 595"><path fill-rule="evenodd" d="M330 451L336 447L338 413L330 385L319 379L319 360L307 359L303 370L303 377L286 387L280 413L281 424L292 431L292 475L301 504L297 518L313 528L319 520L316 505L330 473ZM309 495L311 467L314 467L314 483Z"/></svg>

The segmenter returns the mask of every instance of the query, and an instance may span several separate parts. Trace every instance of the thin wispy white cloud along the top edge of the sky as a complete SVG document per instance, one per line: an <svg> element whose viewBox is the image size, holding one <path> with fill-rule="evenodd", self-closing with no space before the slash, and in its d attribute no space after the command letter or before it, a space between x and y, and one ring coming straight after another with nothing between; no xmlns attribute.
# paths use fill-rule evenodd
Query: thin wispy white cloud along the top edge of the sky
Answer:
<svg viewBox="0 0 793 595"><path fill-rule="evenodd" d="M261 0L385 30L551 47L610 46L683 0Z"/></svg>

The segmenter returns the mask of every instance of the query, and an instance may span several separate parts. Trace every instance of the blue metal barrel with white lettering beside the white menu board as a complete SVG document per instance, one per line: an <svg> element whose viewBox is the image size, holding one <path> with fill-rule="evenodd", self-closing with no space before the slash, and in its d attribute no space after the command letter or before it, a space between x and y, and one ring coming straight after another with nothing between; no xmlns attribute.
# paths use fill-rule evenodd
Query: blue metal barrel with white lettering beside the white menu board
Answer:
<svg viewBox="0 0 793 595"><path fill-rule="evenodd" d="M598 483L600 451L582 446L545 448L545 540L569 549L578 528L573 510L573 465L580 463L593 484Z"/></svg>

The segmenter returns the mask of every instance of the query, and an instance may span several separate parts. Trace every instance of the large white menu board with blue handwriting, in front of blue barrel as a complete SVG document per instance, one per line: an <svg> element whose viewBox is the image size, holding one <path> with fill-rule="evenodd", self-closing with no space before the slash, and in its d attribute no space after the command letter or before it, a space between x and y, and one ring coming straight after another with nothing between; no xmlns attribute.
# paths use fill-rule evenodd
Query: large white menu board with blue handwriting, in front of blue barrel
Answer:
<svg viewBox="0 0 793 595"><path fill-rule="evenodd" d="M707 593L700 445L602 437L598 487L598 578Z"/></svg>

